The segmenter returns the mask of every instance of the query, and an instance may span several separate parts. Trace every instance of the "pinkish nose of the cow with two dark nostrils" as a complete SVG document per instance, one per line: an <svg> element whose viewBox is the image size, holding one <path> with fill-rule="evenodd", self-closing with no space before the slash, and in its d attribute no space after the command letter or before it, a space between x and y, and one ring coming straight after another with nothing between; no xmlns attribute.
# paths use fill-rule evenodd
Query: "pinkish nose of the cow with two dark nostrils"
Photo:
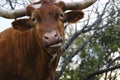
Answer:
<svg viewBox="0 0 120 80"><path fill-rule="evenodd" d="M53 46L53 45L61 46L61 45L57 45L57 44L62 43L62 37L55 30L46 32L43 36L43 42L44 42L44 45L47 47Z"/></svg>

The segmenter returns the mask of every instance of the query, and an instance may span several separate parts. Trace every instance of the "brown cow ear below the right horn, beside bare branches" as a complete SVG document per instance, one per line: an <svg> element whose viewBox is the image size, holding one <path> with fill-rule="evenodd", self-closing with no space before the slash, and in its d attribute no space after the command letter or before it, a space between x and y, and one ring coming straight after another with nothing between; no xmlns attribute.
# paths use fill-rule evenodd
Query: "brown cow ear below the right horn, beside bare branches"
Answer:
<svg viewBox="0 0 120 80"><path fill-rule="evenodd" d="M84 16L84 13L82 11L73 10L73 11L65 13L64 22L75 23L79 21L80 19L82 19L83 16Z"/></svg>

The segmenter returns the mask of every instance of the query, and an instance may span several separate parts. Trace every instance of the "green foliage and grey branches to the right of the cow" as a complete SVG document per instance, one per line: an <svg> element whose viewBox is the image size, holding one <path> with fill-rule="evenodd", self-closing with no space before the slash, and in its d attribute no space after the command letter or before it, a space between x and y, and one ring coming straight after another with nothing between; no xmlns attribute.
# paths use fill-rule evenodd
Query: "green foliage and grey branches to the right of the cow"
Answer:
<svg viewBox="0 0 120 80"><path fill-rule="evenodd" d="M84 45L84 48L78 51L77 55L79 56L79 60L73 61L73 57L71 60L68 60L69 63L62 75L64 77L61 80L100 80L101 77L104 80L118 79L119 73L115 69L120 68L120 13L117 12L118 7L115 5L116 3L112 3L112 1L106 2L101 12L99 12L98 7L96 8L95 13L97 19L93 21L94 25L89 24L92 20L89 16L86 22L87 26L84 25L80 30L72 28L75 32L69 34L70 36L68 35L70 37L69 40L78 33L79 35L73 41L71 40L69 47L63 55L74 55L83 43L89 40L91 36L95 36ZM88 12L88 14L91 15L92 12ZM91 27L89 25L93 26ZM95 31L96 33L94 33ZM63 58L64 60L69 59L69 57ZM72 64L72 67L75 67L75 65L77 67L71 69L70 64Z"/></svg>

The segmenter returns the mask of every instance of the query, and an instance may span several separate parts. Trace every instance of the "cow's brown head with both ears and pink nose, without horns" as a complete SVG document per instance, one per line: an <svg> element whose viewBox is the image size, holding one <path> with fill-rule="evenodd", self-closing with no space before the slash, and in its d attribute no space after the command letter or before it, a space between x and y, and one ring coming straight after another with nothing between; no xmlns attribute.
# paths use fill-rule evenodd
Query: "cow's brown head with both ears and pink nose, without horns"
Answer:
<svg viewBox="0 0 120 80"><path fill-rule="evenodd" d="M64 23L74 23L84 15L81 11L64 13L64 3L44 3L28 6L29 19L20 19L12 23L22 32L33 30L41 48L48 53L56 53L64 41Z"/></svg>

